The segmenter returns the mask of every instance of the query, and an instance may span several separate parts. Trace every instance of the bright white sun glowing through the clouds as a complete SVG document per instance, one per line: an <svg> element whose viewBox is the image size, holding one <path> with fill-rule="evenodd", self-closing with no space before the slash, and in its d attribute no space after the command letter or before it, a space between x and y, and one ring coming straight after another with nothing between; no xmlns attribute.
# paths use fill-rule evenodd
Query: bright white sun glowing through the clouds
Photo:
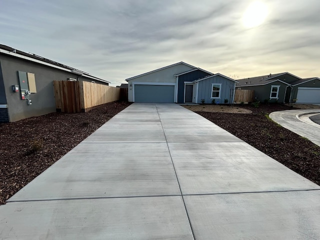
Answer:
<svg viewBox="0 0 320 240"><path fill-rule="evenodd" d="M267 6L260 1L252 2L245 10L242 22L247 28L261 25L268 14Z"/></svg>

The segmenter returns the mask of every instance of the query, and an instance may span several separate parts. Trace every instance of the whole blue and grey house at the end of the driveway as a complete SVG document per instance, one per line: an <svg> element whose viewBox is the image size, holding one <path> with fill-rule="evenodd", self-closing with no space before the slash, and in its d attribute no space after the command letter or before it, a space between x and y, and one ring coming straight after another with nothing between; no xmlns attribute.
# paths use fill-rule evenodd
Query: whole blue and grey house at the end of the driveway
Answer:
<svg viewBox="0 0 320 240"><path fill-rule="evenodd" d="M183 61L125 79L130 102L233 102L234 79Z"/></svg>

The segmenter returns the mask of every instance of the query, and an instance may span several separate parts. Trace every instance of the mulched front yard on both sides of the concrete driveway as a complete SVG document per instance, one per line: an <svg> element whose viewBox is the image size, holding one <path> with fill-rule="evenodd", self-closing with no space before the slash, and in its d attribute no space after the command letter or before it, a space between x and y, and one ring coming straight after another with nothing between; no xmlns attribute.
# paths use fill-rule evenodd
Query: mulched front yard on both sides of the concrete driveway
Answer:
<svg viewBox="0 0 320 240"><path fill-rule="evenodd" d="M6 199L129 104L110 102L85 113L50 113L0 124L0 204L5 204ZM267 117L272 111L292 107L261 104L258 108L251 105L188 108L192 110L192 107L198 114L320 184L320 147Z"/></svg>

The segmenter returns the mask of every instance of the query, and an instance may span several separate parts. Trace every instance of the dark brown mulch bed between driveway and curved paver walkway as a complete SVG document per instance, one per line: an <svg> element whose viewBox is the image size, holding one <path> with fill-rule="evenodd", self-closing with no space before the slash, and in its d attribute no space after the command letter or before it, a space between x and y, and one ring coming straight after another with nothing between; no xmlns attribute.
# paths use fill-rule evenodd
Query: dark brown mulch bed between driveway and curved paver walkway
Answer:
<svg viewBox="0 0 320 240"><path fill-rule="evenodd" d="M283 104L261 104L250 114L196 112L259 149L305 178L320 184L320 146L278 125L268 114L294 109Z"/></svg>

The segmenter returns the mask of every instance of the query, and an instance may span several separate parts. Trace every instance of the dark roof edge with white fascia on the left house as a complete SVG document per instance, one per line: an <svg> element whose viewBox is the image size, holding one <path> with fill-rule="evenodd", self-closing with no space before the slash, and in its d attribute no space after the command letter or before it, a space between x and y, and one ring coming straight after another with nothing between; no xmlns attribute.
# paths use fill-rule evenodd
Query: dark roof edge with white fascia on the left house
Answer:
<svg viewBox="0 0 320 240"><path fill-rule="evenodd" d="M0 44L0 53L6 54L6 55L11 55L11 56L14 56L14 57L17 57L17 58L22 58L22 59L25 59L25 60L36 62L36 63L42 64L42 65L46 65L46 66L50 66L50 67L57 68L57 69L60 69L60 70L72 72L72 73L75 73L77 75L82 75L84 77L91 78L91 79L94 79L94 80L111 83L111 82L109 82L107 80L92 76L89 73L81 71L79 69L76 69L76 68L61 64L61 63L56 62L56 61L52 61L52 60L47 59L45 57L36 55L34 53L26 53L24 51L17 50L15 48L12 48L12 47L7 46L7 45Z"/></svg>

